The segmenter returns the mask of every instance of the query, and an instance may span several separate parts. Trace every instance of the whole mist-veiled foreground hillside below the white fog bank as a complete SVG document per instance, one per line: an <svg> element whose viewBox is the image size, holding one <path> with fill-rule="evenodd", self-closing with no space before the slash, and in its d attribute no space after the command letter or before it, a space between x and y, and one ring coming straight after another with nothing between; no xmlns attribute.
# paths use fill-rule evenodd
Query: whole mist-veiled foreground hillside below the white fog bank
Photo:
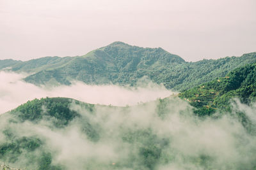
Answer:
<svg viewBox="0 0 256 170"><path fill-rule="evenodd" d="M0 162L40 170L256 167L255 136L236 118L192 113L178 97L127 107L35 99L1 115Z"/></svg>

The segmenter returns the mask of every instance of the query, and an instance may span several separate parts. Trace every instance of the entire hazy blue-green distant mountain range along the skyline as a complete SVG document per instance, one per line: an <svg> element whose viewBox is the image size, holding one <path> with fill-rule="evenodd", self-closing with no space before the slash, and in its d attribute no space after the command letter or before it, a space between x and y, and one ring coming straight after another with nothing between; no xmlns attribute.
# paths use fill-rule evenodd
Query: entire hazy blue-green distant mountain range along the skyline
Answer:
<svg viewBox="0 0 256 170"><path fill-rule="evenodd" d="M167 89L187 90L232 69L256 62L256 53L241 57L186 62L162 48L141 48L122 42L111 43L77 57L43 57L0 60L0 69L31 73L24 80L35 85L70 85L74 80L88 84L136 85L143 76Z"/></svg>

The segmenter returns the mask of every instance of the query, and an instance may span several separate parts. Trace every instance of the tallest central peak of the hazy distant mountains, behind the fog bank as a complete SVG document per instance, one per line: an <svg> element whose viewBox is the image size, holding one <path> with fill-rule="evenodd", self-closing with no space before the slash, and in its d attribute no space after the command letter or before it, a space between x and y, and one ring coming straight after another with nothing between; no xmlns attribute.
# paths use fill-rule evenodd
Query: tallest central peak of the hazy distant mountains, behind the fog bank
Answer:
<svg viewBox="0 0 256 170"><path fill-rule="evenodd" d="M30 83L44 84L50 80L70 84L71 80L85 83L120 83L134 85L138 78L147 76L141 73L145 69L170 66L184 62L177 55L162 48L141 48L115 42L111 45L93 50L81 57L75 57L65 66L44 70L33 74L25 80Z"/></svg>

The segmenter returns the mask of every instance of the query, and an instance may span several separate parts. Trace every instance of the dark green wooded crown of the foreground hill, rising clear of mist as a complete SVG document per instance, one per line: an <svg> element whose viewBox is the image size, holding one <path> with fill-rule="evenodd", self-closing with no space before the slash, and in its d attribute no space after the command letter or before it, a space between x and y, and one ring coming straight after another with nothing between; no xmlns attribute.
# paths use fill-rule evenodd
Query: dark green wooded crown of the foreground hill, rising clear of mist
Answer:
<svg viewBox="0 0 256 170"><path fill-rule="evenodd" d="M80 104L81 102L63 97L46 97L40 100L28 101L15 110L10 111L10 113L18 117L21 122L25 120L38 122L44 117L54 118L54 125L56 127L63 127L68 125L68 122L72 121L75 117L79 117L76 111L70 110L70 104L72 103ZM93 111L93 104L83 103L83 106L88 111Z"/></svg>

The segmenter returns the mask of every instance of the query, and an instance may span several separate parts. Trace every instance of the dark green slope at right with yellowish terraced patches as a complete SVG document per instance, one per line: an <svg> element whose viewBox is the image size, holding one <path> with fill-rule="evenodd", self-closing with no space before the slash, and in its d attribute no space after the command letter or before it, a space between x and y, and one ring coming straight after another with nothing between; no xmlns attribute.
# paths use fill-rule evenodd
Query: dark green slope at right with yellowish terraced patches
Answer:
<svg viewBox="0 0 256 170"><path fill-rule="evenodd" d="M203 83L179 95L198 108L200 115L211 114L217 108L230 110L230 99L251 103L256 97L256 64L238 67L225 77Z"/></svg>

